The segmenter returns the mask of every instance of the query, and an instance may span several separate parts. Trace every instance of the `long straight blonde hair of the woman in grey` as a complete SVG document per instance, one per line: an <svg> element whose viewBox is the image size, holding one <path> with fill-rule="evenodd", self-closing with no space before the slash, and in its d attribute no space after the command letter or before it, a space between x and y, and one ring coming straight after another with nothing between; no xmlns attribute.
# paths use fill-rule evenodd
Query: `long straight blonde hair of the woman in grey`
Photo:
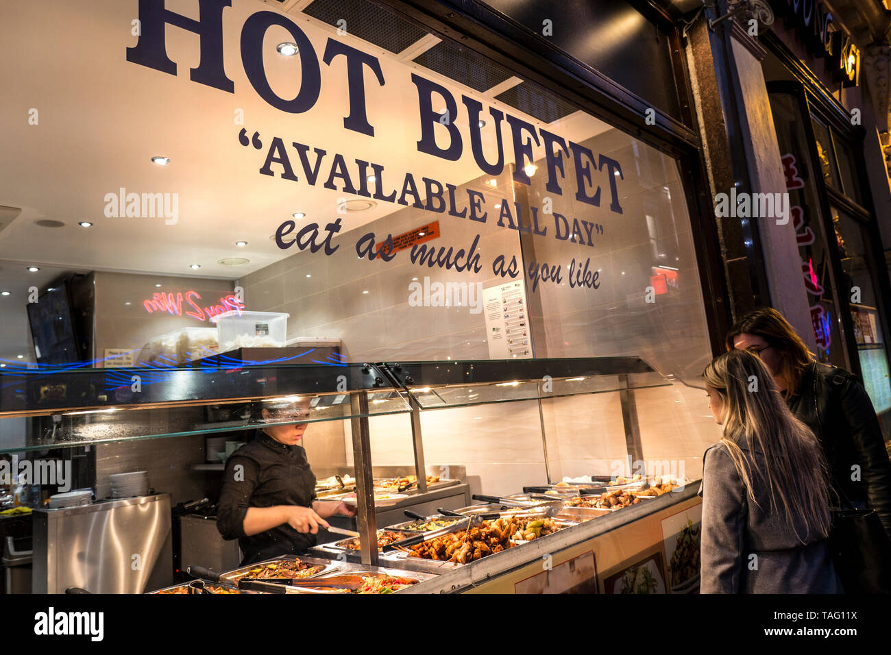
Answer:
<svg viewBox="0 0 891 655"><path fill-rule="evenodd" d="M723 400L723 438L749 500L757 505L753 483L766 483L770 511L780 505L798 535L795 519L828 536L830 485L822 449L813 432L783 402L761 358L731 350L708 364L702 377ZM764 463L743 451L739 442L764 454Z"/></svg>

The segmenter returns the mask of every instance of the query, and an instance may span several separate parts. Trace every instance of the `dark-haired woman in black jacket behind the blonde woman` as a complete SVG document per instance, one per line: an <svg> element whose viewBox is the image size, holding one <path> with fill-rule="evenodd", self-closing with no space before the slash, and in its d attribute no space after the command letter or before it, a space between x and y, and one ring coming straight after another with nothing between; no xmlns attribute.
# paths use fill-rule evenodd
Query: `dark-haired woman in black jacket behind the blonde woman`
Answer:
<svg viewBox="0 0 891 655"><path fill-rule="evenodd" d="M789 409L819 439L842 503L875 510L891 537L891 461L879 418L857 377L813 361L795 329L770 307L736 323L727 348L761 357Z"/></svg>

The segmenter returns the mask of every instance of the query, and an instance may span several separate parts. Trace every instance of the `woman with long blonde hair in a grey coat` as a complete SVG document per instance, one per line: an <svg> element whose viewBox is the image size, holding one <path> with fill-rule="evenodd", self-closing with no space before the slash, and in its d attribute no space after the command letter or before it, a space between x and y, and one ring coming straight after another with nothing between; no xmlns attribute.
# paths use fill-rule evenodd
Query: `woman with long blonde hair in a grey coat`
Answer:
<svg viewBox="0 0 891 655"><path fill-rule="evenodd" d="M732 350L706 367L723 438L702 472L703 594L839 594L830 559L830 487L813 432L770 371Z"/></svg>

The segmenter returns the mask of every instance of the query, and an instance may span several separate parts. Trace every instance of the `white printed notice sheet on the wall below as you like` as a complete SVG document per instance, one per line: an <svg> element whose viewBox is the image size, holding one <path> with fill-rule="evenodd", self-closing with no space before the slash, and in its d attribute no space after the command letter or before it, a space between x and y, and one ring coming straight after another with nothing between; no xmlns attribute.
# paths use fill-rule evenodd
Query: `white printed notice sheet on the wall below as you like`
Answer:
<svg viewBox="0 0 891 655"><path fill-rule="evenodd" d="M483 312L491 359L532 356L523 282L518 280L484 289Z"/></svg>

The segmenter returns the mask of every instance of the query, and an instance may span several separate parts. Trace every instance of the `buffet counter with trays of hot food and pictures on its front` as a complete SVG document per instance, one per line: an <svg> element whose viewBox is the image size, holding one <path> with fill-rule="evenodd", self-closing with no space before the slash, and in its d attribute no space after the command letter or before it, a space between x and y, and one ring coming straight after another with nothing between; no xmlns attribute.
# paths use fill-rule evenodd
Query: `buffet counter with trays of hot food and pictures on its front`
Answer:
<svg viewBox="0 0 891 655"><path fill-rule="evenodd" d="M640 502L620 509L579 514L576 522L560 518L565 514L519 519L511 511L495 512L497 519L487 514L490 518L482 520L473 517L490 505L473 505L463 508L464 518L438 515L430 525L415 520L382 528L377 567L359 564L358 551L345 539L318 545L309 556L284 556L223 574L193 568L192 575L203 573L203 581L176 585L164 593L202 593L202 587L203 593L224 594L695 593L699 589L698 490L699 480L694 480L657 497L643 500L641 496ZM440 523L446 525L439 528ZM554 529L528 535L528 540L517 538L525 528L513 532L516 526L537 528L536 524ZM466 542L462 535L473 534L475 529L492 535L503 528L508 538L505 544L510 545L467 563L429 560L412 554L417 553L417 546L400 545L423 538L421 528L432 528L425 544L437 538L434 535ZM269 582L273 578L278 578L277 583ZM291 580L282 585L283 578Z"/></svg>

